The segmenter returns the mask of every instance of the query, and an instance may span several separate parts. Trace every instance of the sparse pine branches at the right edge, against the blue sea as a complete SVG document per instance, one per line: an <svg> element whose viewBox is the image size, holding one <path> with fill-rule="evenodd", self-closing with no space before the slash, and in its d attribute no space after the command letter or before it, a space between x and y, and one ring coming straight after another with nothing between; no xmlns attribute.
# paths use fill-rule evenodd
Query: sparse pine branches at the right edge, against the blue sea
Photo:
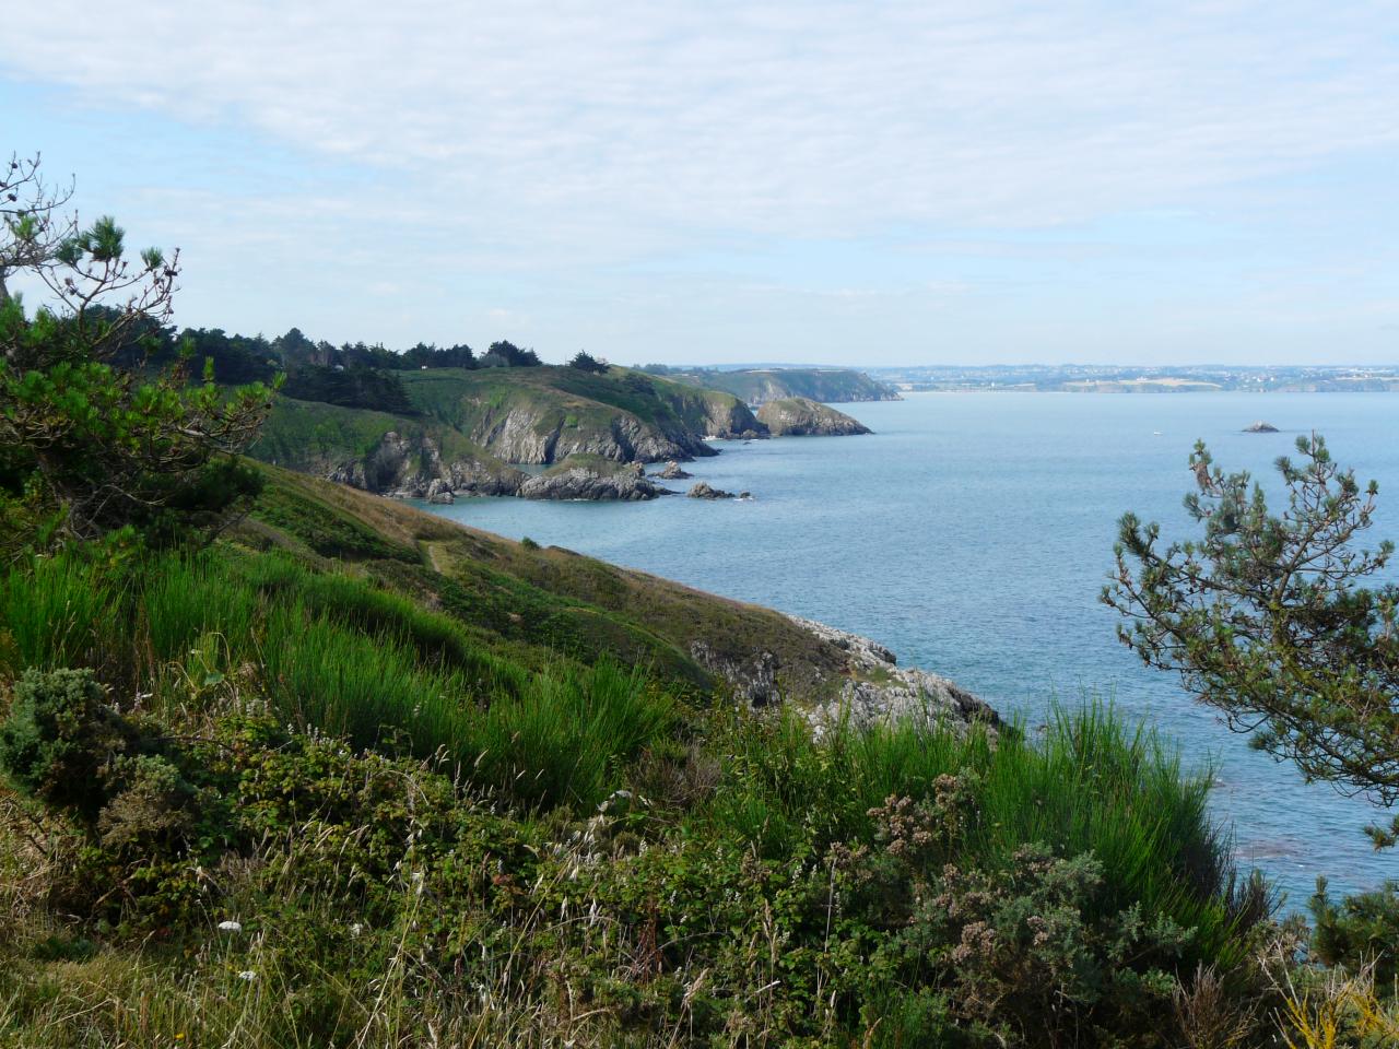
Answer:
<svg viewBox="0 0 1399 1049"><path fill-rule="evenodd" d="M1160 526L1128 513L1116 572L1102 600L1142 660L1181 674L1251 743L1293 761L1309 780L1399 800L1399 635L1393 583L1364 586L1393 545L1354 547L1370 527L1378 487L1361 488L1321 436L1277 460L1287 508L1272 513L1248 473L1224 474L1203 442L1185 498L1203 537L1163 548ZM1367 828L1377 848L1399 818Z"/></svg>

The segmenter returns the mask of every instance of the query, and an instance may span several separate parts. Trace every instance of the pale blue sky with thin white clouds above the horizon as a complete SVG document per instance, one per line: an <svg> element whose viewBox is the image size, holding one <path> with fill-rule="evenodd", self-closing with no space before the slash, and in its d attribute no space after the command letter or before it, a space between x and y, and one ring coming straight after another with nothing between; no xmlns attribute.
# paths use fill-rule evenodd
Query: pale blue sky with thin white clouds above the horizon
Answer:
<svg viewBox="0 0 1399 1049"><path fill-rule="evenodd" d="M176 323L561 361L1399 362L1399 6L46 0L0 150Z"/></svg>

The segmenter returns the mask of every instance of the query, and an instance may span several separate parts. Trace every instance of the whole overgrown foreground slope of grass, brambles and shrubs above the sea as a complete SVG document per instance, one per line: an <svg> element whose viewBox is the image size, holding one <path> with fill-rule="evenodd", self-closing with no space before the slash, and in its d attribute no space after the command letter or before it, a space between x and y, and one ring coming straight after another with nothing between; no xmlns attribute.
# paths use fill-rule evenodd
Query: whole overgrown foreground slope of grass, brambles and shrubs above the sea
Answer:
<svg viewBox="0 0 1399 1049"><path fill-rule="evenodd" d="M0 1045L1170 1049L1142 979L1247 978L1209 776L1101 713L816 740L686 702L697 634L839 662L776 613L269 481L200 557L0 573L0 685L97 669L201 792L84 836L0 787Z"/></svg>

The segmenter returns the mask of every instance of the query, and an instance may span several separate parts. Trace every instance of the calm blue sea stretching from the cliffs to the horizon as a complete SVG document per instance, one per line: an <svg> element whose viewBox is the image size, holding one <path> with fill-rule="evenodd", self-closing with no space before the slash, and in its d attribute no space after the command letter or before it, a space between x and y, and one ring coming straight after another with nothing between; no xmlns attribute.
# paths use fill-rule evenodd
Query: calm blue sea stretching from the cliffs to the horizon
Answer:
<svg viewBox="0 0 1399 1049"><path fill-rule="evenodd" d="M876 434L720 442L718 459L687 464L751 502L432 509L877 638L1030 725L1055 697L1111 695L1188 761L1214 758L1220 817L1290 906L1318 874L1347 891L1399 877L1399 859L1360 832L1370 806L1248 750L1175 678L1142 667L1097 601L1123 511L1186 529L1196 438L1274 488L1272 460L1316 429L1337 462L1379 481L1374 543L1399 538L1399 397L929 393L839 407ZM1256 418L1283 432L1240 432Z"/></svg>

